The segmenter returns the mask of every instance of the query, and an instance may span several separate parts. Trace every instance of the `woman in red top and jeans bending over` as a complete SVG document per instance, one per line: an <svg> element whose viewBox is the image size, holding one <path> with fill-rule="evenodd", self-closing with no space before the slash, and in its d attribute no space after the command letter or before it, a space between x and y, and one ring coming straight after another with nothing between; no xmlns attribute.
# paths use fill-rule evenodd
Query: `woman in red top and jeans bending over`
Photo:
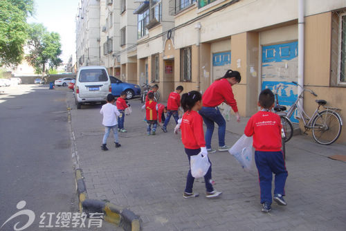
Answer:
<svg viewBox="0 0 346 231"><path fill-rule="evenodd" d="M215 152L215 149L211 147L212 133L214 131L214 122L219 126L219 151L227 151L230 149L225 145L225 132L226 132L226 121L221 115L219 104L226 102L226 104L232 107L237 116L237 122L240 122L240 116L237 108L237 101L233 95L232 86L239 83L242 80L238 71L228 70L224 77L220 77L215 80L206 92L203 94L203 107L199 111L202 115L203 121L207 125L206 131L206 147L208 153Z"/></svg>

